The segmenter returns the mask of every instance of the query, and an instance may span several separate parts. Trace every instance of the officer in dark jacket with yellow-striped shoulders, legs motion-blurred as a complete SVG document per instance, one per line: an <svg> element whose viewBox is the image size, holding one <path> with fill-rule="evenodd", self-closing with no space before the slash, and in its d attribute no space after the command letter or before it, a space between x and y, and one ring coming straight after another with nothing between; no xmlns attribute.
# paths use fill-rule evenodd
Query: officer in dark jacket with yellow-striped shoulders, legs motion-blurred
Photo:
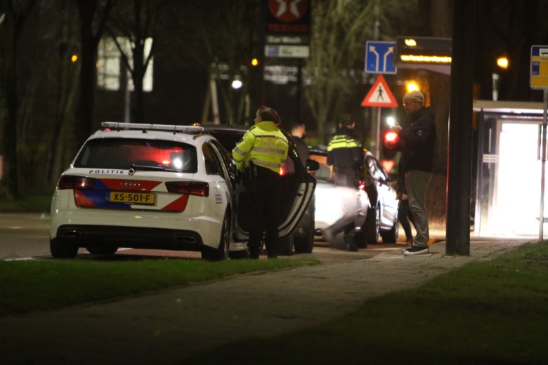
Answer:
<svg viewBox="0 0 548 365"><path fill-rule="evenodd" d="M327 164L333 166L335 187L346 189L342 202L343 217L323 231L330 245L336 234L344 231L346 251L358 251L355 246L354 221L360 208L358 204L358 181L363 164L363 148L354 133L355 120L352 114L339 119L337 134L327 145ZM355 192L354 192L355 191Z"/></svg>

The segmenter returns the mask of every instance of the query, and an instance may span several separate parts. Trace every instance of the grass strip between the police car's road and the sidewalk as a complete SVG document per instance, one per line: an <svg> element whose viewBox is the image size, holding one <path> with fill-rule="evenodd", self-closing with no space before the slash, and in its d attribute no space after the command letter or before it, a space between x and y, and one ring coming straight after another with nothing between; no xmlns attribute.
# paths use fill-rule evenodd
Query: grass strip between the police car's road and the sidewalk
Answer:
<svg viewBox="0 0 548 365"><path fill-rule="evenodd" d="M318 265L318 260L0 261L0 316L110 300L249 272Z"/></svg>

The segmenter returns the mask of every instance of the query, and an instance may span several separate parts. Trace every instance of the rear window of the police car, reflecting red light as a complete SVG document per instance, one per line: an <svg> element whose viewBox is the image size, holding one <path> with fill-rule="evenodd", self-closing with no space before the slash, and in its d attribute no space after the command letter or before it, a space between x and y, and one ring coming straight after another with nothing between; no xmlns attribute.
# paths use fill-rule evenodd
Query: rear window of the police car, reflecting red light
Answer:
<svg viewBox="0 0 548 365"><path fill-rule="evenodd" d="M196 148L167 140L101 138L89 140L74 167L197 172Z"/></svg>

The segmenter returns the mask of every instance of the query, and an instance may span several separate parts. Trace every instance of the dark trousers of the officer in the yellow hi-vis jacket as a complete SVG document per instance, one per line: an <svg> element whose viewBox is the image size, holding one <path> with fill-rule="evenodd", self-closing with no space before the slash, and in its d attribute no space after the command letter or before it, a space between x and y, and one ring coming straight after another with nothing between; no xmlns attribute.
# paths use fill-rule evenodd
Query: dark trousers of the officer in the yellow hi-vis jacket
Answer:
<svg viewBox="0 0 548 365"><path fill-rule="evenodd" d="M257 175L247 185L251 202L247 247L251 258L259 258L263 233L268 255L277 254L278 225L282 210L282 178L268 168L256 169Z"/></svg>

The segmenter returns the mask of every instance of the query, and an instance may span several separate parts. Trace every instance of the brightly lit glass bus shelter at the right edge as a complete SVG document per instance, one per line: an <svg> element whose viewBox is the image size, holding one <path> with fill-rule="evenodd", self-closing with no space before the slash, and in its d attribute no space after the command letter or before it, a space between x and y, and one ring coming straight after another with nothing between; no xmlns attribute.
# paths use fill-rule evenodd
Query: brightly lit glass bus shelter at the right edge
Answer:
<svg viewBox="0 0 548 365"><path fill-rule="evenodd" d="M474 100L474 112L478 123L474 234L538 238L542 102ZM545 191L544 222L547 195Z"/></svg>

